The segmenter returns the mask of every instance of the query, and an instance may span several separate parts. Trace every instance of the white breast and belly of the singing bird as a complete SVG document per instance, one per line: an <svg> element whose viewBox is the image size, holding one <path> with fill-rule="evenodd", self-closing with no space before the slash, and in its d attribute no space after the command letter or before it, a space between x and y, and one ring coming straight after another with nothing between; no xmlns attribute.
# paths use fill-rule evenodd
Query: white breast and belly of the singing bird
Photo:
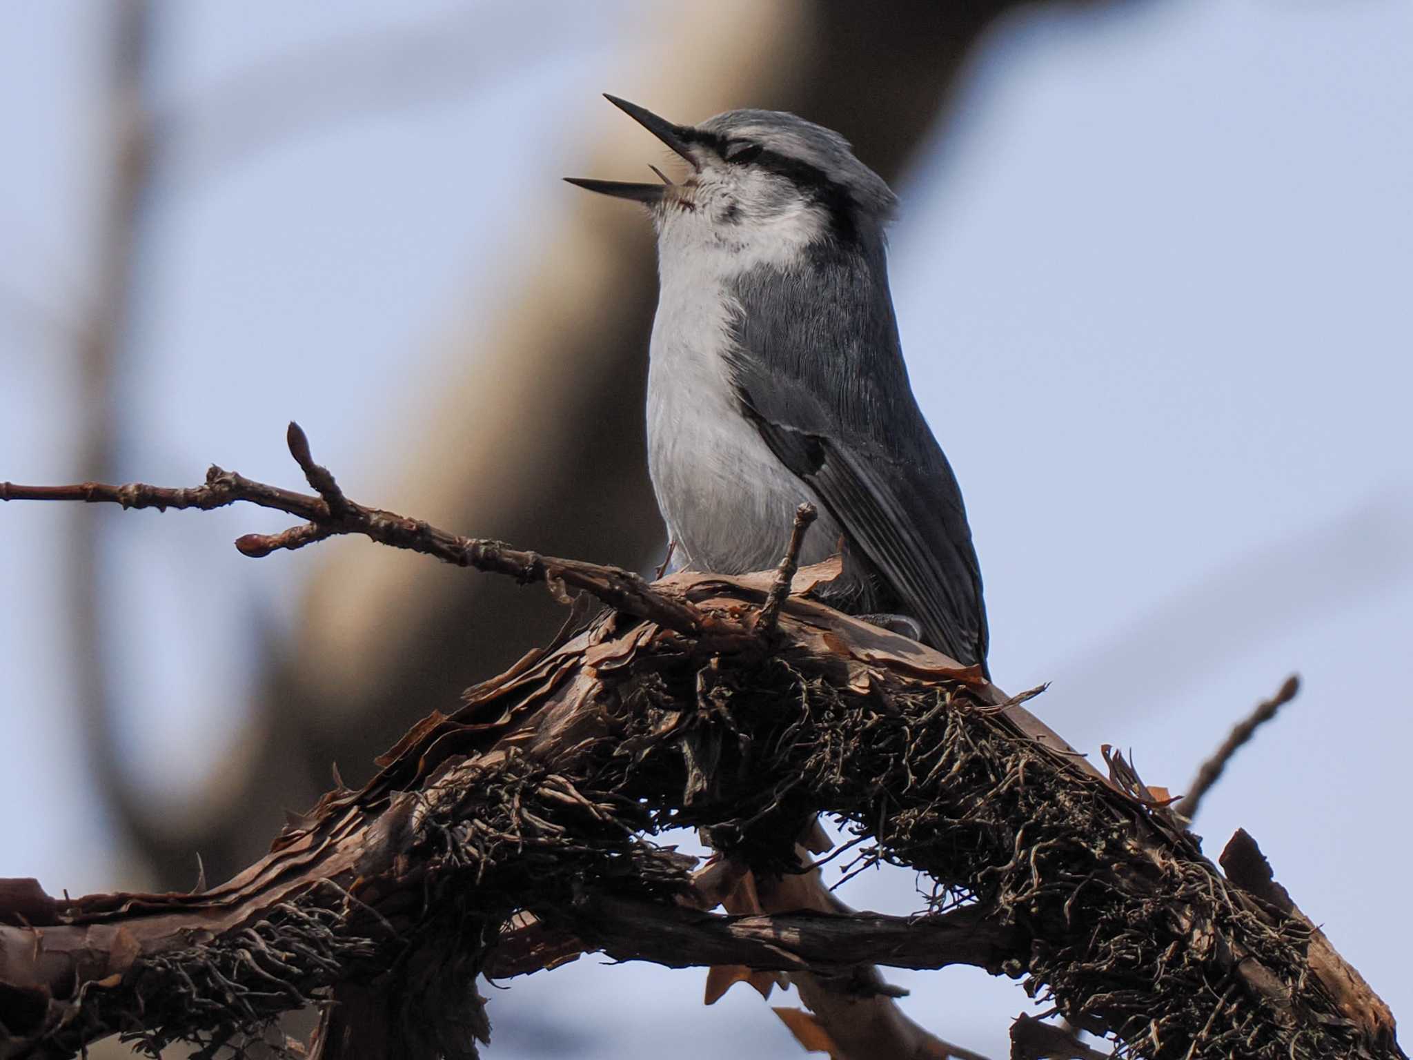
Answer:
<svg viewBox="0 0 1413 1060"><path fill-rule="evenodd" d="M773 246L747 249L692 230L701 222L691 213L677 222L680 230L670 219L658 242L661 291L647 376L649 471L677 543L674 567L739 574L776 565L803 500L820 509L801 557L817 563L835 551L839 527L743 417L725 360L738 308L731 277L797 249L807 233L800 226Z"/></svg>

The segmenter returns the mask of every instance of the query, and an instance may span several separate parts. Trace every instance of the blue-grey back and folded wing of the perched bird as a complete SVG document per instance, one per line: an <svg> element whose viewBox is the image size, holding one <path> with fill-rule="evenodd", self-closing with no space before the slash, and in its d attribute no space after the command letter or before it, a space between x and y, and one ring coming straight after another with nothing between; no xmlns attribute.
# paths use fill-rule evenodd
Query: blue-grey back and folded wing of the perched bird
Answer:
<svg viewBox="0 0 1413 1060"><path fill-rule="evenodd" d="M951 465L913 399L882 246L811 247L808 267L736 284L736 394L924 640L986 664L986 608Z"/></svg>

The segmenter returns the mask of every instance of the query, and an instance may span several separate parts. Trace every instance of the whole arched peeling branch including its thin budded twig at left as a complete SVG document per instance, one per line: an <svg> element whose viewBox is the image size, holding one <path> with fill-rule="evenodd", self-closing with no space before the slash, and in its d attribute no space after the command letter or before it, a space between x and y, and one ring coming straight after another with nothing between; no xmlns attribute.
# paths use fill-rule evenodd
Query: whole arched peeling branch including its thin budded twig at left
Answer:
<svg viewBox="0 0 1413 1060"><path fill-rule="evenodd" d="M188 490L3 483L0 497L247 500L307 520L294 530L309 536L359 533L619 611L425 718L369 784L325 794L226 883L72 900L0 883L0 1060L113 1032L213 1049L308 1003L325 1005L322 1060L473 1057L489 1033L476 975L548 967L582 944L834 985L861 962L976 964L1154 1060L1403 1056L1392 1013L1269 869L1246 856L1224 878L1122 759L1116 780L1101 776L1027 697L800 595L762 637L780 571L647 585L363 507L297 431L291 451L319 496L213 468ZM836 571L787 584L801 594ZM818 813L870 840L865 856L927 873L931 913L694 912L739 873L694 879L691 859L642 838L709 828L783 895L810 871L794 844Z"/></svg>

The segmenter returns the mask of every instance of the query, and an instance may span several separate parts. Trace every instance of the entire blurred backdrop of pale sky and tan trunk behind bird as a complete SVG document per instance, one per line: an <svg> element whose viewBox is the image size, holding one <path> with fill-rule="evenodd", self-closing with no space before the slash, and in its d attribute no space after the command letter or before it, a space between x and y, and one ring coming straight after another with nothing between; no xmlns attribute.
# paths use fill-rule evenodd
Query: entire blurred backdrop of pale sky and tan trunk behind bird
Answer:
<svg viewBox="0 0 1413 1060"><path fill-rule="evenodd" d="M901 196L903 346L998 681L1051 681L1071 742L1181 790L1299 671L1195 827L1212 854L1251 830L1407 1018L1410 47L1406 0L10 0L0 478L300 486L297 418L360 502L650 570L650 226L558 178L661 161L603 90L796 110ZM284 524L0 510L0 875L225 878L331 762L366 779L561 618L363 540L230 547ZM918 906L897 871L844 897ZM487 1056L798 1054L704 977L586 957L483 988ZM1027 1005L890 979L993 1056Z"/></svg>

